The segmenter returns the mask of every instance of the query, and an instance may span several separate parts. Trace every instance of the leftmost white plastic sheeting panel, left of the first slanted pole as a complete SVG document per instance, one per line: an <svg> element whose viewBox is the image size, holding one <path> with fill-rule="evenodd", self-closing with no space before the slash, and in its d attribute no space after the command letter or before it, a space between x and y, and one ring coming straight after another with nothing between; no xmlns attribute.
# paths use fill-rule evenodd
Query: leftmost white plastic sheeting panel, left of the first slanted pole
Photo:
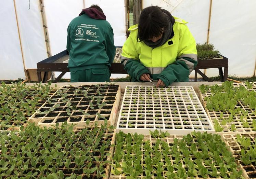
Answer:
<svg viewBox="0 0 256 179"><path fill-rule="evenodd" d="M0 80L25 78L21 46L13 1L1 0L0 6Z"/></svg>

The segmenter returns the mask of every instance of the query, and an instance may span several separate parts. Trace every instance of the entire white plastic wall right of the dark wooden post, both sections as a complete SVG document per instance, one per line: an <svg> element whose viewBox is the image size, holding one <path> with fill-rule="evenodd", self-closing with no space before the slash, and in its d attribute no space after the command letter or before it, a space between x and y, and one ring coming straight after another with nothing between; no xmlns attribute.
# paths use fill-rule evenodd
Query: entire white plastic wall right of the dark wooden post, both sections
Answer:
<svg viewBox="0 0 256 179"><path fill-rule="evenodd" d="M172 15L183 18L189 22L187 25L197 43L207 41L210 0L143 0L142 5L143 8L158 5ZM255 74L255 8L255 0L212 1L209 43L213 43L222 55L229 58L228 74L238 77ZM206 70L209 77L218 74L218 69Z"/></svg>

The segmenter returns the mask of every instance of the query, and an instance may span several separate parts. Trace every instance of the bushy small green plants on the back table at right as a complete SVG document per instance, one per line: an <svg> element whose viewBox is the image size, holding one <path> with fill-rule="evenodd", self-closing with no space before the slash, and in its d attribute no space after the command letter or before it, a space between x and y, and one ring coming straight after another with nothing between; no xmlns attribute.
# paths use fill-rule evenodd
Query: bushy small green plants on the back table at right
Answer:
<svg viewBox="0 0 256 179"><path fill-rule="evenodd" d="M197 59L198 60L206 60L206 59L214 59L214 58L223 58L218 50L214 49L213 44L207 44L206 42L203 44L196 44L197 50Z"/></svg>

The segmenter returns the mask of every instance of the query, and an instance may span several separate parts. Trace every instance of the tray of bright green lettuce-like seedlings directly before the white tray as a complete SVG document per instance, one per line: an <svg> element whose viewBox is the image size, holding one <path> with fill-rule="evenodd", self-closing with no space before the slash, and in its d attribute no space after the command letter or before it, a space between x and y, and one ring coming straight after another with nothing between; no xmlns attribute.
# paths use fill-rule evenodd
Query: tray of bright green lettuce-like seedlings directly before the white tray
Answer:
<svg viewBox="0 0 256 179"><path fill-rule="evenodd" d="M110 179L241 178L219 135L116 134Z"/></svg>

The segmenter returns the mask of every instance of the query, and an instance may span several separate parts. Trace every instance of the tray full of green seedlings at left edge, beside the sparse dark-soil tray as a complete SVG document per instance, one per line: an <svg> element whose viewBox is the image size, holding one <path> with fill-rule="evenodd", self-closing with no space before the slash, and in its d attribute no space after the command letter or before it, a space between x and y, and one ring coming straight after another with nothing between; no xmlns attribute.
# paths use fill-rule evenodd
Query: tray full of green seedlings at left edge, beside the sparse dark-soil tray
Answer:
<svg viewBox="0 0 256 179"><path fill-rule="evenodd" d="M21 81L11 85L2 82L0 86L0 129L18 127L55 92L48 84L26 86ZM17 128L16 128L17 129Z"/></svg>

